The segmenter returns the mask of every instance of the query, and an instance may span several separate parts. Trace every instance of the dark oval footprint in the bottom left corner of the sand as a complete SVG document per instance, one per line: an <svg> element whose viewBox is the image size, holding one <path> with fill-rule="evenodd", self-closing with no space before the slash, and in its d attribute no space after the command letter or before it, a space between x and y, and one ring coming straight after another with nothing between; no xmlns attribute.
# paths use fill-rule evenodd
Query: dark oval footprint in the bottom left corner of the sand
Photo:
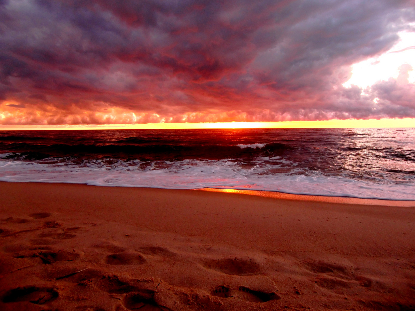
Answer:
<svg viewBox="0 0 415 311"><path fill-rule="evenodd" d="M33 304L45 304L52 301L59 296L58 292L51 287L17 287L11 289L4 296L2 301L4 303L29 301Z"/></svg>

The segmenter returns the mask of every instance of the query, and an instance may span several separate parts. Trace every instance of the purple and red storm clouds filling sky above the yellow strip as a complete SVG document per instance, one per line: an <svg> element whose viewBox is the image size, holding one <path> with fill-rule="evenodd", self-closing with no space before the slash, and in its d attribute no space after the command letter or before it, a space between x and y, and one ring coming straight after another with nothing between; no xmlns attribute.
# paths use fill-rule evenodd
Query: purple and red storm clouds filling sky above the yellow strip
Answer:
<svg viewBox="0 0 415 311"><path fill-rule="evenodd" d="M385 118L415 0L0 0L1 126Z"/></svg>

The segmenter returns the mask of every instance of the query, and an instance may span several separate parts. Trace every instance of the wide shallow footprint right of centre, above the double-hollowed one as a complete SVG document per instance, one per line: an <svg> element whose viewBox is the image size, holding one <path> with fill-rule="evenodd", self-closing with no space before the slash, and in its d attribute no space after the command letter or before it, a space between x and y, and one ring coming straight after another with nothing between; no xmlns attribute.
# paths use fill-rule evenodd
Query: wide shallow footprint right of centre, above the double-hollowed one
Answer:
<svg viewBox="0 0 415 311"><path fill-rule="evenodd" d="M252 259L224 258L219 260L205 260L203 266L229 275L258 275L261 270Z"/></svg>

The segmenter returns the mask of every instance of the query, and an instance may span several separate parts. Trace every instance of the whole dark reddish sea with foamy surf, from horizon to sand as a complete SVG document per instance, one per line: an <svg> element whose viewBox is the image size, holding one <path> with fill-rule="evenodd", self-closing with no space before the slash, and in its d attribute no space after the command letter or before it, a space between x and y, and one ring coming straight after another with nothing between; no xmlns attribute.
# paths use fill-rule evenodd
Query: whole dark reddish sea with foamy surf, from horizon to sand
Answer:
<svg viewBox="0 0 415 311"><path fill-rule="evenodd" d="M0 131L0 180L415 200L415 129Z"/></svg>

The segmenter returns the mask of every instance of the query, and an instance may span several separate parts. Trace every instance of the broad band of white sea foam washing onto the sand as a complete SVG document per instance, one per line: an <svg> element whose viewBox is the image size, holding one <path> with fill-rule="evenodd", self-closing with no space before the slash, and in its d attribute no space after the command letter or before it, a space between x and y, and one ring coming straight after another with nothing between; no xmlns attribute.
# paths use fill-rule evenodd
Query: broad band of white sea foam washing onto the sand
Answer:
<svg viewBox="0 0 415 311"><path fill-rule="evenodd" d="M68 182L97 186L154 187L168 189L233 188L269 190L292 194L359 197L369 199L415 200L413 182L356 180L343 176L278 172L286 161L272 165L250 165L231 160L183 160L141 163L139 160L101 160L83 163L42 163L0 160L0 180L8 182ZM258 162L259 163L259 162Z"/></svg>

